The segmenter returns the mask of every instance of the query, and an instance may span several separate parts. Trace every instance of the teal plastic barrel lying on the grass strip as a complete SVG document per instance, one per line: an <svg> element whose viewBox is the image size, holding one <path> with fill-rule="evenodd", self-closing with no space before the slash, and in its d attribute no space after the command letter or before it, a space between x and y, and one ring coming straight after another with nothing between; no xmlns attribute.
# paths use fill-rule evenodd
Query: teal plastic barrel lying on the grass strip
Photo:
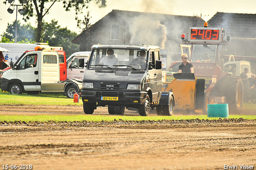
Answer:
<svg viewBox="0 0 256 170"><path fill-rule="evenodd" d="M228 118L228 104L207 104L207 116Z"/></svg>

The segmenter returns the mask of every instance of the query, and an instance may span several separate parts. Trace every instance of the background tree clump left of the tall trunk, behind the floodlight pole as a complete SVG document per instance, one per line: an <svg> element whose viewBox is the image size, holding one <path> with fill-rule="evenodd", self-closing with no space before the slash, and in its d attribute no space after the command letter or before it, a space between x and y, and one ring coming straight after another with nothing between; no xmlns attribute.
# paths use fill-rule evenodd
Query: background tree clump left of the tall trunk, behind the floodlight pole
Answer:
<svg viewBox="0 0 256 170"><path fill-rule="evenodd" d="M11 24L8 23L6 28L6 32L4 32L1 36L9 39L10 42L14 42L15 36L15 21ZM17 42L27 42L33 43L35 40L36 28L34 28L31 23L28 24L20 24L20 21L17 20Z"/></svg>

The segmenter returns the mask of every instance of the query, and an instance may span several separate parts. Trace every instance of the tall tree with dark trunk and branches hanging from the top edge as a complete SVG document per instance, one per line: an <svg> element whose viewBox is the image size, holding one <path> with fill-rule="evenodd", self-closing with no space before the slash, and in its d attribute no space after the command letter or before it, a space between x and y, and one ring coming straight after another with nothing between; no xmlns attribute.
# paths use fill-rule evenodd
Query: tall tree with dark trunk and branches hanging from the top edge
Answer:
<svg viewBox="0 0 256 170"><path fill-rule="evenodd" d="M26 0L26 3L24 4L26 13L24 14L23 20L26 22L30 20L31 17L36 16L36 42L42 42L43 18L49 14L49 10L52 8L55 2L63 2L63 8L65 8L66 11L70 11L71 8L74 8L76 11L75 19L77 20L77 25L79 26L81 20L78 19L78 14L82 13L84 8L88 8L88 3L91 1L96 2L100 8L106 6L106 0ZM4 0L4 4L7 4L8 2L10 1ZM24 0L19 0L19 2L22 3ZM47 4L49 4L48 8L46 7L48 6Z"/></svg>

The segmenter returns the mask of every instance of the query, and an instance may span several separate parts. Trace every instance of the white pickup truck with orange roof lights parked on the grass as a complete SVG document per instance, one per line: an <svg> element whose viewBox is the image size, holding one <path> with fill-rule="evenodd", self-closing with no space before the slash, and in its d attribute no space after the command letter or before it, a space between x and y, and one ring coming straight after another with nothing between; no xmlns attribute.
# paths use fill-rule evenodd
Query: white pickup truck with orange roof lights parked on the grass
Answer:
<svg viewBox="0 0 256 170"><path fill-rule="evenodd" d="M82 88L75 80L60 81L59 55L51 47L28 51L10 67L0 77L0 88L12 94L65 93L73 98Z"/></svg>

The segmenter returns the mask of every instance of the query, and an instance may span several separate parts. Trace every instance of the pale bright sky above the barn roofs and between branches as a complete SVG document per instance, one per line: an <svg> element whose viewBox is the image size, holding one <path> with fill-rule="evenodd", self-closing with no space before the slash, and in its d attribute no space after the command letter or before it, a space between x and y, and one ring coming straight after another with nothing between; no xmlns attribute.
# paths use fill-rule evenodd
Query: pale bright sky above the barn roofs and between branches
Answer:
<svg viewBox="0 0 256 170"><path fill-rule="evenodd" d="M16 19L16 8L13 14L9 14L7 12L9 4L5 5L2 2L0 3L0 34L6 30L8 22L12 23ZM18 0L15 0L14 4L19 4ZM50 3L48 5L50 6ZM202 19L205 21L210 20L217 12L256 14L255 0L106 0L106 5L105 8L98 8L95 1L90 2L91 24L100 20L112 10L182 16L201 16L202 14ZM84 13L79 15L79 19L84 19L86 11L84 10ZM74 19L74 10L66 12L61 2L54 4L50 10L50 14L46 15L44 20L49 23L53 18L58 21L58 25L62 28L67 27L73 32L80 33L81 30L77 28L77 22ZM19 13L17 20L24 23ZM32 18L29 22L31 22L32 26L36 27L36 18Z"/></svg>

